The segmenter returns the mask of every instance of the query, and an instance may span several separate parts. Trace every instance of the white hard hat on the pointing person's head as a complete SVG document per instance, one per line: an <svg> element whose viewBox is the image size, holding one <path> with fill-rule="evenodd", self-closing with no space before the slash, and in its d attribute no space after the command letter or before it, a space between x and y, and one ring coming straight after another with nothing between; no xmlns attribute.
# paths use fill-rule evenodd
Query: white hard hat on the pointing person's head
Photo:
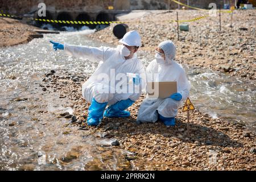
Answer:
<svg viewBox="0 0 256 182"><path fill-rule="evenodd" d="M139 46L141 47L141 36L135 30L127 32L119 43L125 44L126 46Z"/></svg>

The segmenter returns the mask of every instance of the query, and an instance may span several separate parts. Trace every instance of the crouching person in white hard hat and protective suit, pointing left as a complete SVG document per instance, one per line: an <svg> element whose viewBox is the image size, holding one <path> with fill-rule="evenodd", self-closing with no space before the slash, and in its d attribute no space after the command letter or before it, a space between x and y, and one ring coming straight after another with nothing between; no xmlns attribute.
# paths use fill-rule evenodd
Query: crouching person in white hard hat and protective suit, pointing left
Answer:
<svg viewBox="0 0 256 182"><path fill-rule="evenodd" d="M103 116L129 117L127 107L138 99L143 83L146 84L142 76L145 75L144 67L136 53L141 46L141 36L137 31L130 31L119 42L122 45L116 48L97 48L51 41L56 50L63 49L68 55L80 59L99 61L96 71L82 84L82 96L91 104L87 118L89 126L97 126ZM127 77L127 73L134 73L130 74L133 77Z"/></svg>

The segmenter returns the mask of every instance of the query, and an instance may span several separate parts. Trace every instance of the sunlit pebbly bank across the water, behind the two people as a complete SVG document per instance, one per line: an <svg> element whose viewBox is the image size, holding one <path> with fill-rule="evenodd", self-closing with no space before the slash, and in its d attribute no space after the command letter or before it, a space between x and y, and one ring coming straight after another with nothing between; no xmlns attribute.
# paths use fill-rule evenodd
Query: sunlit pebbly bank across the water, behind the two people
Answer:
<svg viewBox="0 0 256 182"><path fill-rule="evenodd" d="M180 20L188 20L207 15L203 11L178 10ZM129 30L137 30L142 36L144 51L154 53L158 44L172 40L177 47L176 60L182 64L193 65L213 71L225 72L230 76L256 79L255 57L255 10L221 14L221 32L219 19L209 16L195 22L189 22L189 31L180 31L177 41L176 10L166 13L151 13L141 19L131 19L126 24ZM117 45L118 39L113 35L113 27L88 35L90 38Z"/></svg>

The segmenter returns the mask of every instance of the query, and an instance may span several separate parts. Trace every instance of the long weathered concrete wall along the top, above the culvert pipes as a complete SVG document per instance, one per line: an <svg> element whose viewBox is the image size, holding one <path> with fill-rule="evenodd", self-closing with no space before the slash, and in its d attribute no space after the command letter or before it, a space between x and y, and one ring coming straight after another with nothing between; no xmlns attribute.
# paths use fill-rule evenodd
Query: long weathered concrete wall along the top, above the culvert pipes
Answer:
<svg viewBox="0 0 256 182"><path fill-rule="evenodd" d="M115 20L115 15L121 10L166 10L168 0L0 0L0 10L12 15L28 14L38 9L38 4L46 4L47 14L44 19L57 20ZM187 0L180 0L187 4ZM189 0L189 5L207 9L209 3L222 5L224 1L217 0ZM226 0L228 2L228 0ZM113 6L114 10L108 10ZM170 1L170 9L177 9L178 5ZM181 8L182 6L180 6ZM37 12L34 14L35 18Z"/></svg>

